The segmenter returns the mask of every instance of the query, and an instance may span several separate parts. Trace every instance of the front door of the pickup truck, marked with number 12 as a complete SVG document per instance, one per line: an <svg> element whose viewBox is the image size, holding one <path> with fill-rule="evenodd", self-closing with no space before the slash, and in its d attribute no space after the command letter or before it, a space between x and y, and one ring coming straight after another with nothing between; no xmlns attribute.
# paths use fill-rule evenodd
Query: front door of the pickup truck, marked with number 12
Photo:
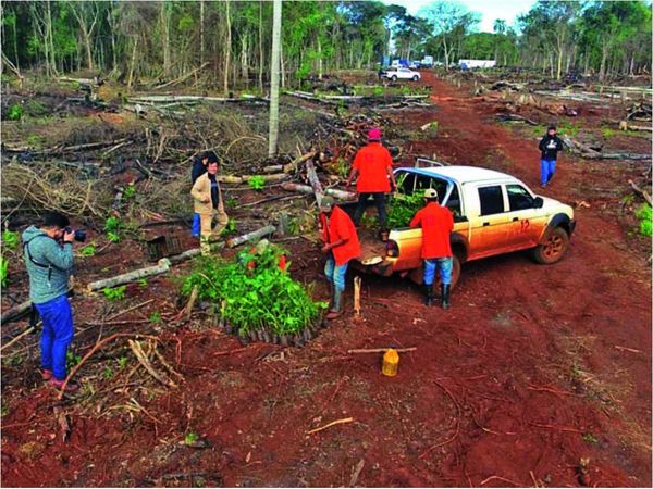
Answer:
<svg viewBox="0 0 653 489"><path fill-rule="evenodd" d="M508 250L521 250L538 244L546 216L541 209L535 209L534 198L519 184L506 185L508 197L509 229L507 236Z"/></svg>

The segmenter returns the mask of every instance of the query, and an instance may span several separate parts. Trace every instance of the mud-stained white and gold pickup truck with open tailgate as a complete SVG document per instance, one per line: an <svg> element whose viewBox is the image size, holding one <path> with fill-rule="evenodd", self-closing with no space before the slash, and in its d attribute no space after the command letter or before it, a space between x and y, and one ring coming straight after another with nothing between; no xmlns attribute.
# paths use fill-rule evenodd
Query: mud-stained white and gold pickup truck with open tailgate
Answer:
<svg viewBox="0 0 653 489"><path fill-rule="evenodd" d="M534 195L510 175L476 166L405 167L394 173L399 193L434 188L441 204L454 214L452 287L465 262L531 249L537 262L551 264L569 247L574 209ZM421 284L420 228L392 229L386 242L361 235L362 254L355 267L382 276L399 273Z"/></svg>

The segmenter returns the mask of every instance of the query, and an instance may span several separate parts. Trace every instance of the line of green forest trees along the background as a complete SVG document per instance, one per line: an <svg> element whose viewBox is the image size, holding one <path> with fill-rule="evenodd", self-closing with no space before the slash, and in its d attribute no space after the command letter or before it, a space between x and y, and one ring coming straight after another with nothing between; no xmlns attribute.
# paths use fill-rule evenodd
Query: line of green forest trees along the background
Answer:
<svg viewBox="0 0 653 489"><path fill-rule="evenodd" d="M552 77L601 79L651 70L651 3L539 1L515 25L435 1L410 15L379 1L283 1L281 85L334 70L378 68L386 57L496 60ZM3 71L46 76L89 70L128 86L201 77L227 92L269 83L270 1L3 1Z"/></svg>

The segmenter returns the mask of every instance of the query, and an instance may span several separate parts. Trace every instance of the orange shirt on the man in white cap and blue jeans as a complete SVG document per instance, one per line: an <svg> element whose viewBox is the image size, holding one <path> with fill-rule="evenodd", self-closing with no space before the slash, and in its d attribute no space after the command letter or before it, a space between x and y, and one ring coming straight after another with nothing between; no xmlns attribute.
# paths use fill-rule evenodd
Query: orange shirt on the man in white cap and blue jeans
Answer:
<svg viewBox="0 0 653 489"><path fill-rule="evenodd" d="M418 226L422 228L421 258L423 260L453 256L451 234L454 229L454 216L452 211L438 202L430 202L410 221L410 227Z"/></svg>

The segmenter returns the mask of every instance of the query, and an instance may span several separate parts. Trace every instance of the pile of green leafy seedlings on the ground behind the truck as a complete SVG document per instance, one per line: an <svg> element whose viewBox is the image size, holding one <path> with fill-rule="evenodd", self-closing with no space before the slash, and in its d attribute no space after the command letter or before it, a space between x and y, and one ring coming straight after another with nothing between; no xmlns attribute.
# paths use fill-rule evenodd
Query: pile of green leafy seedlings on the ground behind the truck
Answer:
<svg viewBox="0 0 653 489"><path fill-rule="evenodd" d="M264 341L301 347L320 326L324 302L311 299L311 288L294 280L285 262L286 251L260 241L233 262L200 258L182 284L182 296L213 304L220 325L243 344ZM196 292L194 292L196 290Z"/></svg>

